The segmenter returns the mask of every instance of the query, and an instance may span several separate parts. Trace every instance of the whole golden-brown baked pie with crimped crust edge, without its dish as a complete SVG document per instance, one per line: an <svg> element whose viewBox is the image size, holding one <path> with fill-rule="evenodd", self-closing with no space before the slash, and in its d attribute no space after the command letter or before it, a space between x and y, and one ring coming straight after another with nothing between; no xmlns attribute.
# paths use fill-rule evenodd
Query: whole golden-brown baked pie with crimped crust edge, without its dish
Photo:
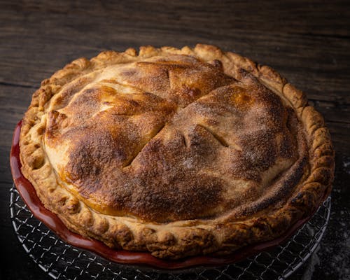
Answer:
<svg viewBox="0 0 350 280"><path fill-rule="evenodd" d="M74 60L34 92L20 160L73 232L171 259L280 237L318 208L334 173L305 95L212 45Z"/></svg>

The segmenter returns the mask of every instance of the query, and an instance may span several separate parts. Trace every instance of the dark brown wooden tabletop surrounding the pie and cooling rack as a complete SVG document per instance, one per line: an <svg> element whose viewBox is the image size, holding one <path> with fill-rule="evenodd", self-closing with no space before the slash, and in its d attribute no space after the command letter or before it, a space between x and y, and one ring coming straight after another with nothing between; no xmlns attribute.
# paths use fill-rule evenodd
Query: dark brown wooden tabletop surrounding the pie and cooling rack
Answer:
<svg viewBox="0 0 350 280"><path fill-rule="evenodd" d="M41 80L102 50L195 43L272 66L325 117L336 150L332 214L303 279L350 279L349 18L349 1L0 1L0 279L49 279L8 211L13 129Z"/></svg>

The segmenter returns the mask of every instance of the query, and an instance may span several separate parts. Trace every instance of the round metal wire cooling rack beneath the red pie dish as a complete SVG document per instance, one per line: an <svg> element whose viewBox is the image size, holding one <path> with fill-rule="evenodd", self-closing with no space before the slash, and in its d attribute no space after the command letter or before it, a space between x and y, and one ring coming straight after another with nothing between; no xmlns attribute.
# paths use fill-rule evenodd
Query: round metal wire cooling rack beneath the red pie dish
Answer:
<svg viewBox="0 0 350 280"><path fill-rule="evenodd" d="M291 239L272 250L232 265L217 268L197 267L174 273L118 265L64 243L34 218L15 187L10 189L10 216L18 240L43 271L53 279L66 280L286 279L316 250L328 224L330 204L328 197L308 223L297 230Z"/></svg>

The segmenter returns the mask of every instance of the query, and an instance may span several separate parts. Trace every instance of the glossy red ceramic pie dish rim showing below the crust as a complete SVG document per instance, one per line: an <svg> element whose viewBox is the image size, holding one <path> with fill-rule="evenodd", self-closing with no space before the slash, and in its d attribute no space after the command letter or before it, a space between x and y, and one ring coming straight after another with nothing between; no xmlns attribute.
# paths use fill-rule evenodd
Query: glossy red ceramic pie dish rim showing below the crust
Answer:
<svg viewBox="0 0 350 280"><path fill-rule="evenodd" d="M300 228L304 223L309 221L312 215L302 218L297 221L290 229L281 237L276 238L272 241L265 241L259 244L253 244L246 246L244 248L235 251L231 255L225 256L214 256L214 255L202 255L195 257L183 258L180 260L164 260L160 258L155 258L151 253L137 252L137 251L125 251L125 250L115 250L109 248L101 241L95 239L87 239L82 237L75 232L71 232L64 223L57 217L56 214L52 213L48 209L45 209L38 196L36 191L31 183L23 176L20 168L20 130L21 130L22 121L18 123L15 127L15 132L13 134L13 142L10 151L10 168L13 176L13 181L15 186L24 200L27 207L33 213L33 215L41 222L43 222L52 232L55 232L62 240L66 243L76 246L78 248L83 248L88 251L92 251L101 255L103 258L117 262L119 264L125 265L139 265L146 267L153 267L157 269L186 269L189 267L198 267L198 266L220 266L227 265L239 260L243 260L248 256L255 255L260 251L267 250L274 246L277 246L283 241L286 241L290 236L293 235L293 232ZM325 193L325 199L328 196L328 193Z"/></svg>

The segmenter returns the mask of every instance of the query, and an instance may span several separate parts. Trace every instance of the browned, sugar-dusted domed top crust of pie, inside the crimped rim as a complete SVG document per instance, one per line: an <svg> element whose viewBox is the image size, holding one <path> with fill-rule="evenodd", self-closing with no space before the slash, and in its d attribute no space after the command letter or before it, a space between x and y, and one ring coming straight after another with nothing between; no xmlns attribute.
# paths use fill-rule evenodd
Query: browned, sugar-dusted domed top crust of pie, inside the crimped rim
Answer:
<svg viewBox="0 0 350 280"><path fill-rule="evenodd" d="M165 222L239 216L288 194L304 164L299 130L253 77L169 55L64 85L44 141L59 183L92 209Z"/></svg>

